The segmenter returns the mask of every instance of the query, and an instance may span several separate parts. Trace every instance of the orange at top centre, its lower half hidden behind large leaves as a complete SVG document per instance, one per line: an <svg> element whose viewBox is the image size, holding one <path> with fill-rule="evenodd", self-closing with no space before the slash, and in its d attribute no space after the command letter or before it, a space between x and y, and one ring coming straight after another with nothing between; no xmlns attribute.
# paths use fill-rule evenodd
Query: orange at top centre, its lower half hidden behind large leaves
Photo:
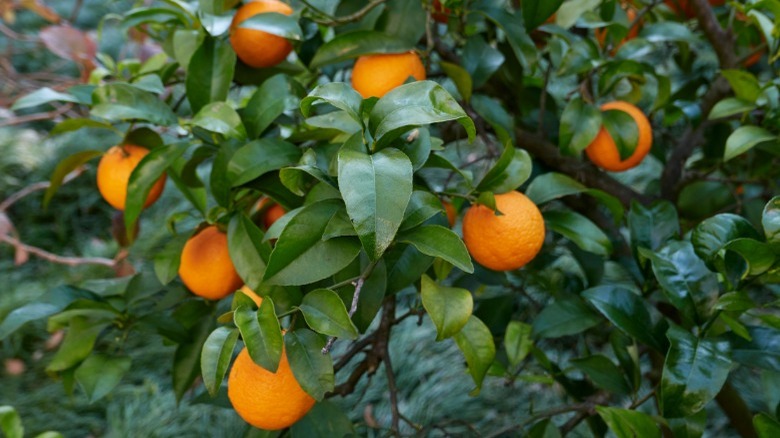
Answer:
<svg viewBox="0 0 780 438"><path fill-rule="evenodd" d="M409 76L425 79L425 67L414 52L365 55L352 68L352 88L364 99L382 97Z"/></svg>

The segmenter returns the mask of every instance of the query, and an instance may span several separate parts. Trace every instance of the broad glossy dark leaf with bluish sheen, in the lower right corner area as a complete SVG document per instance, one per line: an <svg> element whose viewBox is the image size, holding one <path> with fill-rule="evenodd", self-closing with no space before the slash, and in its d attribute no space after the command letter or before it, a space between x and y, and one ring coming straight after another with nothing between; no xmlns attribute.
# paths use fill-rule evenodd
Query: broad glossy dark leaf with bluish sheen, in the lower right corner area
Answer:
<svg viewBox="0 0 780 438"><path fill-rule="evenodd" d="M675 325L666 333L671 346L661 376L660 407L664 417L699 412L720 392L731 369L726 341L699 339Z"/></svg>

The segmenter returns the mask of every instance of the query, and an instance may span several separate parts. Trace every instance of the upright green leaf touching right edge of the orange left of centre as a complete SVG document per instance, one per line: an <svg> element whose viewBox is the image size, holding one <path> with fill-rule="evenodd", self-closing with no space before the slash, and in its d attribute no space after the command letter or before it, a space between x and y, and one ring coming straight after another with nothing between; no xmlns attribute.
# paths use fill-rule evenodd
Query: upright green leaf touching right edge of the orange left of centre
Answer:
<svg viewBox="0 0 780 438"><path fill-rule="evenodd" d="M244 283L252 290L260 288L271 245L263 241L263 232L244 214L236 214L228 225L230 260Z"/></svg>

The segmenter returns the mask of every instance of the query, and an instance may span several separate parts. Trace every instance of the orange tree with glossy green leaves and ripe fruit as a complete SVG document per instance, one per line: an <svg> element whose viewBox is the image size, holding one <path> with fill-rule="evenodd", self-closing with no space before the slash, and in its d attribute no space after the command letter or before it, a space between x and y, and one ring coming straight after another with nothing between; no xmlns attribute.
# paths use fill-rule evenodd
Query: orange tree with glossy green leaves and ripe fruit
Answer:
<svg viewBox="0 0 780 438"><path fill-rule="evenodd" d="M107 151L126 169L129 145L148 152L100 183L126 194L119 240L164 175L191 203L170 224L201 225L129 279L16 309L0 339L65 329L47 369L96 400L131 367L115 344L153 333L178 345L179 397L227 386L249 423L301 436L365 430L326 399L383 367L392 418L370 427L426 434L388 344L430 318L474 396L561 394L480 433L687 437L724 417L780 436L780 2L245 3L139 2L109 19L159 54L87 53L84 84L16 100L73 105L52 135L122 133L62 157L44 202Z"/></svg>

